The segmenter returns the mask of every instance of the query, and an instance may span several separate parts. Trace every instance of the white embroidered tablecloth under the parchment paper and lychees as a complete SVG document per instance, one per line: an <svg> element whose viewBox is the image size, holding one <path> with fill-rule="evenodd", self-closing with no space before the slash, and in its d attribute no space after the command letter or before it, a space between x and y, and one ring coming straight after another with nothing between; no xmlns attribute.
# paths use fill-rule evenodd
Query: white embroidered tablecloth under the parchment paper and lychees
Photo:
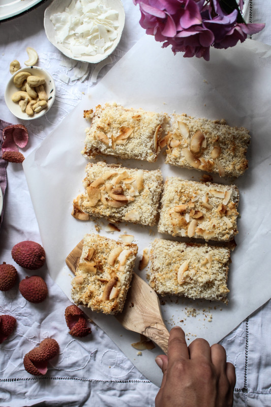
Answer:
<svg viewBox="0 0 271 407"><path fill-rule="evenodd" d="M27 126L29 142L22 151L25 156L77 105L83 93L91 93L97 75L100 80L144 35L138 23L138 7L135 7L132 1L125 0L125 30L121 42L111 56L110 64L101 71L95 65L81 66L78 63L74 66L45 36L43 16L48 4L49 1L36 10L0 24L0 119ZM265 30L253 36L253 39L271 45L270 18L271 4L263 0L250 0L248 21L266 23ZM47 69L54 77L57 96L53 107L43 118L23 123L6 107L4 92L10 77L9 64L13 59L17 59L23 66L27 60L27 46L38 51L39 66ZM144 63L142 62L142 67L147 69ZM87 76L83 80L76 78L77 68L85 70ZM14 264L11 257L14 244L23 240L42 242L21 165L9 163L7 177L5 213L0 229L0 263L6 261ZM68 334L64 311L71 303L53 283L46 266L36 273L27 273L19 266L16 268L20 279L25 275L42 275L49 288L49 298L41 304L30 304L20 295L18 285L10 292L0 293L0 314L11 314L17 319L16 330L0 345L0 405L91 406L96 403L97 406L110 407L137 407L139 404L154 406L158 387L145 379L100 328L92 324L93 333L82 339ZM257 271L255 275L256 273ZM234 406L271 404L270 334L271 301L223 339L222 344L226 348L228 360L236 367ZM31 376L23 368L23 356L48 336L58 341L60 355L54 363L49 364L46 376ZM138 357L144 357L144 354Z"/></svg>

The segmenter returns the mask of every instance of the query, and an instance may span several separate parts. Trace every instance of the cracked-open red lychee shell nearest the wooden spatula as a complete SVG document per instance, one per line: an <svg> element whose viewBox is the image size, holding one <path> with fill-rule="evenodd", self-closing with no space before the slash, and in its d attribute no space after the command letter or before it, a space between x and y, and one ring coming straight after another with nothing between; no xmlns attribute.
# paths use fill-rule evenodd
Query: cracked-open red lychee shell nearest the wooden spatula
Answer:
<svg viewBox="0 0 271 407"><path fill-rule="evenodd" d="M85 314L76 305L70 305L65 310L65 319L70 329L69 334L82 338L91 333L91 328L87 328Z"/></svg>

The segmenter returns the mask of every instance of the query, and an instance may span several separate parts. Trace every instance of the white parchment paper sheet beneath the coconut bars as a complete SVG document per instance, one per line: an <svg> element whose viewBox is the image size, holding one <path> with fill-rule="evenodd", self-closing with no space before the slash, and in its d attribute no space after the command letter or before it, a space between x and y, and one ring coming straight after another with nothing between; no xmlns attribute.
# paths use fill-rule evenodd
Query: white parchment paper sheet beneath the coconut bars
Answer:
<svg viewBox="0 0 271 407"><path fill-rule="evenodd" d="M71 272L65 258L87 232L118 239L125 231L135 236L139 246L135 267L145 279L146 270L138 271L142 250L155 237L166 239L157 228L120 224L121 232L109 234L106 221L80 222L71 216L72 201L82 191L86 160L80 152L88 123L83 110L97 104L116 101L126 107L142 107L172 113L186 112L195 117L227 120L231 126L250 129L249 169L234 180L240 191L237 247L232 252L229 271L229 305L204 301L163 299L162 312L168 329L175 324L184 328L188 342L203 337L215 343L233 330L249 314L271 297L270 247L270 47L251 40L228 50L212 50L210 62L174 56L162 49L153 37L143 37L93 88L74 111L55 128L41 146L29 155L24 171L39 223L51 277L70 298ZM102 157L101 159L104 159ZM200 180L202 172L181 170L164 164L108 159L130 167L160 167L164 178L178 176ZM233 180L214 177L214 182ZM174 240L179 240L175 238ZM194 309L194 311L193 311ZM137 351L131 346L139 335L126 331L113 316L85 312L112 338L137 368L152 382L161 384L161 371L154 356L161 353ZM193 316L194 315L194 316Z"/></svg>

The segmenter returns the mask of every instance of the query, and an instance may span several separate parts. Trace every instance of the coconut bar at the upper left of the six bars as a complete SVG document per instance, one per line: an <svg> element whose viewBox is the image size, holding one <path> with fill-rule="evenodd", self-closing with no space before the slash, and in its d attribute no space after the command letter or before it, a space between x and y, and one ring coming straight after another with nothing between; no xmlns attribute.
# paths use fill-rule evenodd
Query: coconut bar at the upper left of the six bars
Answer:
<svg viewBox="0 0 271 407"><path fill-rule="evenodd" d="M105 154L149 162L157 160L166 114L106 103L97 106L95 112L85 110L84 118L91 121L91 127L86 129L84 157Z"/></svg>

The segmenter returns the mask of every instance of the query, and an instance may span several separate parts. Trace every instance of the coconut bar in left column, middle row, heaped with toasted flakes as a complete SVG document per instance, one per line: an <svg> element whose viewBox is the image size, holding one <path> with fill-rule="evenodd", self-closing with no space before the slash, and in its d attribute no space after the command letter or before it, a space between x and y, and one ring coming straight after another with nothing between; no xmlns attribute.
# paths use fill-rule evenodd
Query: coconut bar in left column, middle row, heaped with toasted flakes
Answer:
<svg viewBox="0 0 271 407"><path fill-rule="evenodd" d="M72 215L79 219L96 216L153 226L162 182L160 169L148 171L88 163L83 181L85 190L74 199Z"/></svg>

